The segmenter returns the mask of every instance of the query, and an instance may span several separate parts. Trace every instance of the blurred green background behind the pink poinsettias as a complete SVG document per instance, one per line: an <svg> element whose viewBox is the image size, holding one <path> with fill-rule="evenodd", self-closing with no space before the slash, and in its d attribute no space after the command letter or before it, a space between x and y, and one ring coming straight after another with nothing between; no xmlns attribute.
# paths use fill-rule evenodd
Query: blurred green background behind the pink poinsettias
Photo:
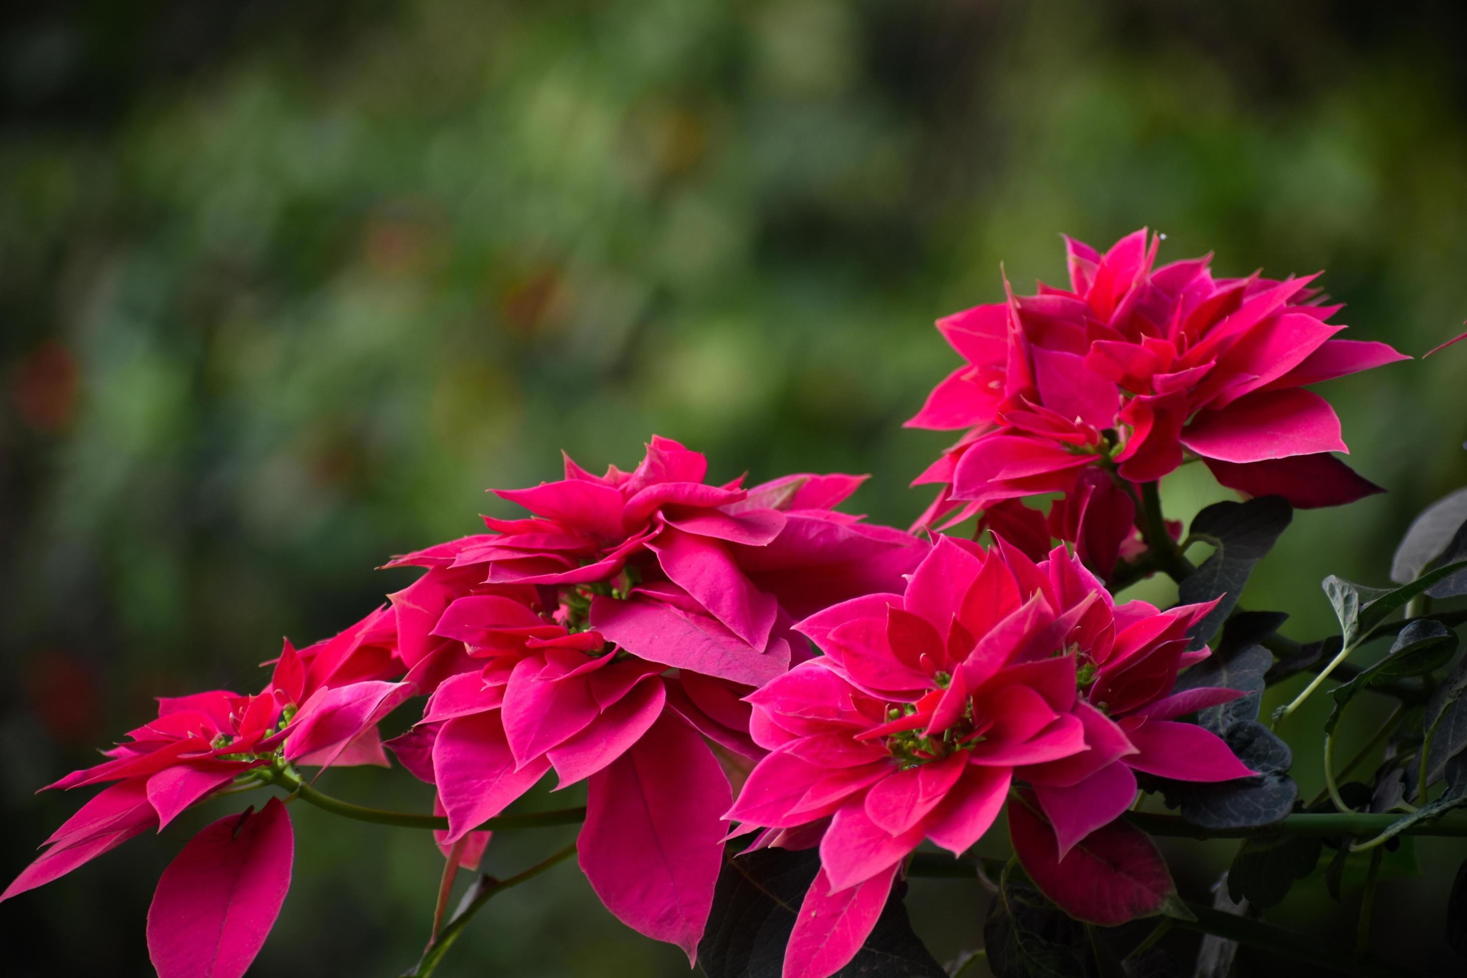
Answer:
<svg viewBox="0 0 1467 978"><path fill-rule="evenodd" d="M484 487L553 478L560 449L629 466L659 433L719 478L871 472L855 506L905 525L948 443L901 428L956 365L932 321L999 299L1000 261L1062 282L1059 232L1147 224L1163 260L1210 249L1222 274L1326 268L1348 336L1413 355L1467 315L1455 3L92 0L6 21L4 874L76 805L31 792L150 696L263 683L282 633L355 620L411 579L384 557L508 512ZM1452 353L1323 389L1391 493L1298 515L1254 576L1294 636L1331 628L1322 576L1383 584L1411 516L1467 484ZM1166 484L1169 515L1221 497L1200 466ZM1320 718L1284 729L1306 793ZM427 804L402 771L323 786ZM0 908L9 974L151 974L157 874L224 811ZM406 968L431 843L315 811L296 833L255 974ZM1438 934L1463 846L1416 849L1432 871L1382 884L1380 935ZM1171 852L1200 896L1231 846ZM1348 940L1348 896L1310 886L1273 919ZM978 943L986 902L911 900L939 956ZM565 869L493 905L443 974L687 971Z"/></svg>

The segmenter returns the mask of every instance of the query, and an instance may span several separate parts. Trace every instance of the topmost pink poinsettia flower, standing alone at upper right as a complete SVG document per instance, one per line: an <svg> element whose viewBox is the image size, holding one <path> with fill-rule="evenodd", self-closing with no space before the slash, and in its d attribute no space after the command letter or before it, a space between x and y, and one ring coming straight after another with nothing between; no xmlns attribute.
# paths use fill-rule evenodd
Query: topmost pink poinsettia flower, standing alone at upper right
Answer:
<svg viewBox="0 0 1467 978"><path fill-rule="evenodd" d="M1157 268L1144 229L1103 255L1065 240L1069 289L937 323L967 364L907 424L967 434L917 479L940 485L923 521L1069 493L1099 463L1150 482L1188 457L1298 507L1380 491L1331 455L1348 453L1339 419L1306 387L1408 358L1335 339L1341 306L1317 276L1215 279L1210 257Z"/></svg>

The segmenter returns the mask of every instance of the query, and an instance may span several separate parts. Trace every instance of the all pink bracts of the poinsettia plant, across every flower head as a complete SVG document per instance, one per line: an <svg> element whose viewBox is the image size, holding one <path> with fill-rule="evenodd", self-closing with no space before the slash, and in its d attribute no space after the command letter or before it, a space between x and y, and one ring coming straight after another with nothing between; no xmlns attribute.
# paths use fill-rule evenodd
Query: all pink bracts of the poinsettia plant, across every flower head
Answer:
<svg viewBox="0 0 1467 978"><path fill-rule="evenodd" d="M1144 547L1133 484L1191 455L1297 506L1376 491L1329 455L1339 422L1301 387L1402 356L1331 339L1336 306L1310 279L1213 279L1206 260L1155 255L1144 232L1105 255L1069 242L1069 290L939 324L968 362L911 424L968 433L918 479L942 484L918 522L981 513L992 547L838 512L858 477L710 485L701 455L656 437L632 472L566 459L565 479L499 493L528 519L399 557L424 573L340 635L288 644L258 695L160 701L107 761L53 784L109 787L0 899L251 777L386 765L386 746L434 786L439 845L467 867L489 842L477 827L552 770L557 787L585 782L587 878L689 959L729 837L819 846L785 975L823 978L923 840L967 850L1018 786L1043 817L1015 833L1020 859L1053 862L1134 802L1135 771L1251 774L1179 720L1240 694L1172 692L1207 655L1187 630L1212 606L1105 588ZM1047 519L1018 501L1050 493ZM377 723L424 695L384 745ZM160 974L244 974L292 855L279 801L195 837L150 911ZM229 899L255 927L195 927Z"/></svg>

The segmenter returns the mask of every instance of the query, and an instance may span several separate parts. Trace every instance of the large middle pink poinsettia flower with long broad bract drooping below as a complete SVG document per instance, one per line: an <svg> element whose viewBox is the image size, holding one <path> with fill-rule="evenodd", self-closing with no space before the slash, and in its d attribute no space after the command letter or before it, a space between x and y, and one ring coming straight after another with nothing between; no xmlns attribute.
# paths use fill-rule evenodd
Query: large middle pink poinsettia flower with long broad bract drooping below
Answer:
<svg viewBox="0 0 1467 978"><path fill-rule="evenodd" d="M763 755L744 696L810 657L791 625L901 587L927 545L835 510L861 482L704 482L651 440L632 472L499 496L528 519L428 547L392 595L406 680L433 689L392 742L437 789L440 842L469 837L541 777L587 783L578 856L603 903L692 959L722 865L725 762ZM399 749L400 748L400 749Z"/></svg>

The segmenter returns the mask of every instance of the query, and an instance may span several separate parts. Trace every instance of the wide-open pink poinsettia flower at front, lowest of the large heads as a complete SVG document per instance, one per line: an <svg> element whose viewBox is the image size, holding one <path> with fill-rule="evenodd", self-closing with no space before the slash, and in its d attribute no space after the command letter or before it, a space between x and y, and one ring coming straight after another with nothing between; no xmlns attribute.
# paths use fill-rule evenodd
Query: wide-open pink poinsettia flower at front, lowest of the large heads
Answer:
<svg viewBox="0 0 1467 978"><path fill-rule="evenodd" d="M907 855L924 839L967 850L1018 782L1053 789L1071 831L1084 818L1069 804L1077 784L1105 787L1111 821L1133 768L1251 774L1221 739L1175 723L1185 704L1165 699L1177 670L1206 655L1185 651L1185 629L1210 609L1116 607L1064 547L1036 563L1002 540L984 551L943 537L904 592L802 620L826 654L748 696L751 735L769 754L729 811L741 828L763 828L754 846L820 846L785 977L839 971ZM1235 694L1191 695L1207 705ZM1196 765L1190 751L1201 752ZM1134 798L1133 776L1127 805Z"/></svg>

